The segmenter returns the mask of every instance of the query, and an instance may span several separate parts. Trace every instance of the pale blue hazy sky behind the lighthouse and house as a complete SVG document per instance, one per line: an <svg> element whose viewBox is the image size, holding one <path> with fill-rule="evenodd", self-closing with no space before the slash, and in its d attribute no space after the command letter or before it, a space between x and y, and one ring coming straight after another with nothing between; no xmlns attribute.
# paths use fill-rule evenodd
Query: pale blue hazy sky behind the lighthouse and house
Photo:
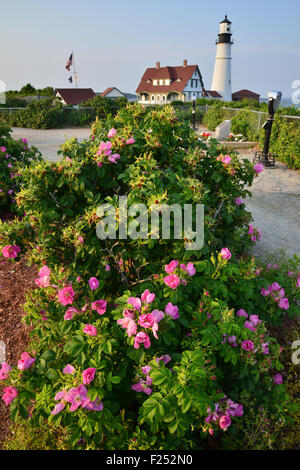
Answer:
<svg viewBox="0 0 300 470"><path fill-rule="evenodd" d="M0 80L134 93L147 67L197 64L210 89L219 23L232 21L232 91L291 96L300 80L299 0L0 0Z"/></svg>

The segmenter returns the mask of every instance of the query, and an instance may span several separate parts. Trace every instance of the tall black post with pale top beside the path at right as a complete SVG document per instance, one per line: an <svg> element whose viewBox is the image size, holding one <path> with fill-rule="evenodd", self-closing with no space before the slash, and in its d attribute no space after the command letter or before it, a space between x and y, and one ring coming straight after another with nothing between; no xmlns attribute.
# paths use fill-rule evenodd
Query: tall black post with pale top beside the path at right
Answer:
<svg viewBox="0 0 300 470"><path fill-rule="evenodd" d="M264 148L262 152L256 152L255 160L260 161L264 166L270 167L275 165L275 155L273 156L273 161L270 162L269 160L269 147L270 147L270 138L272 132L272 126L274 122L274 114L278 109L280 104L280 100L282 97L282 93L280 91L270 91L268 93L268 119L263 125L263 129L265 130L265 141L264 141Z"/></svg>

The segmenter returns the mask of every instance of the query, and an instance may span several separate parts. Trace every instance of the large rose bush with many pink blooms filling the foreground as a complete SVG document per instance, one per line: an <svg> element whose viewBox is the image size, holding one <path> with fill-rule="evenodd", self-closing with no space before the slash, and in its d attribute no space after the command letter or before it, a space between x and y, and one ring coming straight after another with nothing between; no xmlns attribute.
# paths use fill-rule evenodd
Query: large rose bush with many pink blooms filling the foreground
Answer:
<svg viewBox="0 0 300 470"><path fill-rule="evenodd" d="M299 315L299 259L277 269L243 255L261 236L242 199L253 165L199 140L172 108L135 105L62 156L22 169L26 215L1 225L2 252L21 247L39 267L31 342L0 371L12 419L63 429L70 449L220 448L247 434L253 403L284 425L269 327ZM204 204L203 248L100 240L97 207L111 203L118 220L118 195Z"/></svg>

